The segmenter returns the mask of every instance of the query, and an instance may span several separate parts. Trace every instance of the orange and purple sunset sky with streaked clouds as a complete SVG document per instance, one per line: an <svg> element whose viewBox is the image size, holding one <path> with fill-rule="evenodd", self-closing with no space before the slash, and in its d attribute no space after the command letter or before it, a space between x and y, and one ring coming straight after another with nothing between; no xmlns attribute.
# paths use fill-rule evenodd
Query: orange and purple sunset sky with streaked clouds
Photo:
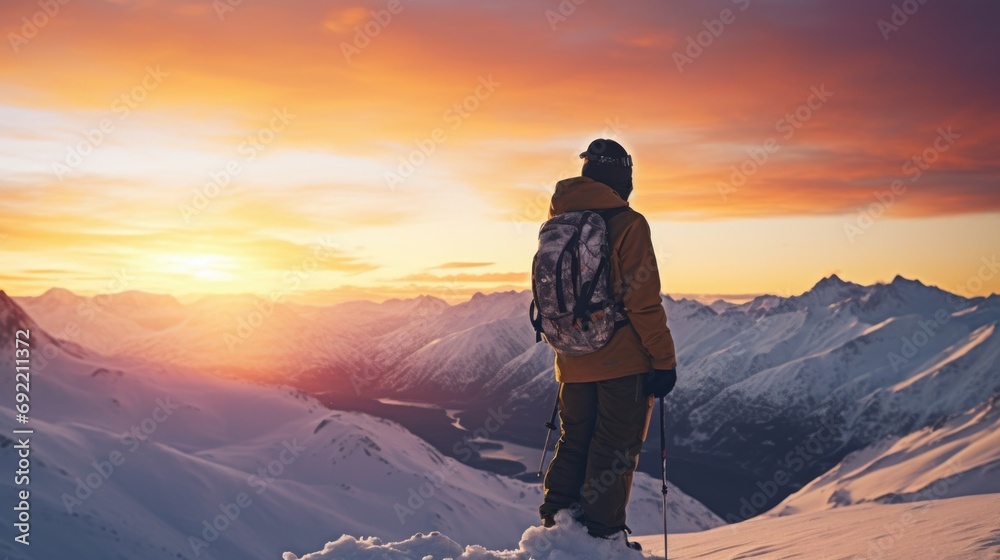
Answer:
<svg viewBox="0 0 1000 560"><path fill-rule="evenodd" d="M788 295L831 273L1000 292L998 16L5 1L0 289L525 289L555 182L610 137L633 154L664 292Z"/></svg>

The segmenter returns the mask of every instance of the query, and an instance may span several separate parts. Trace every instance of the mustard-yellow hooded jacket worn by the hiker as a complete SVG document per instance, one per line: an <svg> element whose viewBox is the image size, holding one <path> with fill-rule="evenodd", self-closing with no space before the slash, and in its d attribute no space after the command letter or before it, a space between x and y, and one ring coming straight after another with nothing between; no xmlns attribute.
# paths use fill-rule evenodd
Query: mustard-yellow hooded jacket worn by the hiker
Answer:
<svg viewBox="0 0 1000 560"><path fill-rule="evenodd" d="M549 218L574 210L628 206L604 183L587 177L556 184ZM600 350L583 356L556 353L556 380L562 383L601 381L652 369L676 366L674 339L660 300L660 275L653 254L649 223L642 214L623 212L608 223L611 285L625 304L629 325L619 328Z"/></svg>

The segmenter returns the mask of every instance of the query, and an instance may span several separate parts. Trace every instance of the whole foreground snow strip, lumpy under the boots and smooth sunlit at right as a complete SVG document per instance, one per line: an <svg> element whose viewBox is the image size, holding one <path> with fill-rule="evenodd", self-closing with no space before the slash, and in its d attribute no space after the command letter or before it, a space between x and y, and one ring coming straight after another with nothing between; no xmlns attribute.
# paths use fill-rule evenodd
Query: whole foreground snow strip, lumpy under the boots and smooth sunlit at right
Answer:
<svg viewBox="0 0 1000 560"><path fill-rule="evenodd" d="M344 536L318 552L283 560L628 560L663 557L662 535L635 537L643 552L621 541L601 542L563 518L550 529L524 532L517 550L461 547L439 533L401 542ZM865 504L832 511L757 518L670 537L670 558L869 558L989 560L1000 558L1000 495L913 504Z"/></svg>

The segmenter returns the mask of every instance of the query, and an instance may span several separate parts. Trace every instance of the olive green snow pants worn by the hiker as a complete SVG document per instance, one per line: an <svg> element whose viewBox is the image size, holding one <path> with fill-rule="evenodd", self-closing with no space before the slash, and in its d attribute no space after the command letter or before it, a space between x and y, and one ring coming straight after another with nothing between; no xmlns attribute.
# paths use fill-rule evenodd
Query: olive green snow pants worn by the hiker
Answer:
<svg viewBox="0 0 1000 560"><path fill-rule="evenodd" d="M561 433L538 508L543 520L570 509L591 534L610 535L624 528L653 401L652 395L643 394L642 374L562 385Z"/></svg>

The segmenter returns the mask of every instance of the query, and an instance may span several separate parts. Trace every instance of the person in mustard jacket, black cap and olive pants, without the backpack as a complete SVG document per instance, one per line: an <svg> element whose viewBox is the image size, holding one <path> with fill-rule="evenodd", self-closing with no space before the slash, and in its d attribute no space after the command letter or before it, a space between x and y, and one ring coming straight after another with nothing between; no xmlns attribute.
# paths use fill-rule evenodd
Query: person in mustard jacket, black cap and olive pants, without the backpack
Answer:
<svg viewBox="0 0 1000 560"><path fill-rule="evenodd" d="M556 184L549 217L576 210L628 206L632 158L613 140L591 142L582 177ZM660 301L660 277L649 224L634 210L607 223L614 297L629 322L595 352L556 353L561 435L545 474L542 522L552 526L569 509L594 537L623 538L639 452L655 398L677 381L674 342Z"/></svg>

